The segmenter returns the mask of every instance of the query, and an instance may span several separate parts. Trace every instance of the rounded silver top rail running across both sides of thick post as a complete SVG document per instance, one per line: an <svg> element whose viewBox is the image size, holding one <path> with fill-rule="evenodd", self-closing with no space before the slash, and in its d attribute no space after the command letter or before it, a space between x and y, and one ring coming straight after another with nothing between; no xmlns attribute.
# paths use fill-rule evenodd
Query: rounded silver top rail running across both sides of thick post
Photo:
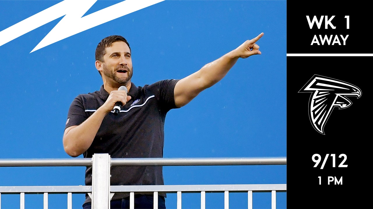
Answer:
<svg viewBox="0 0 373 209"><path fill-rule="evenodd" d="M0 167L90 166L91 158L0 159ZM111 158L111 166L286 165L286 157Z"/></svg>

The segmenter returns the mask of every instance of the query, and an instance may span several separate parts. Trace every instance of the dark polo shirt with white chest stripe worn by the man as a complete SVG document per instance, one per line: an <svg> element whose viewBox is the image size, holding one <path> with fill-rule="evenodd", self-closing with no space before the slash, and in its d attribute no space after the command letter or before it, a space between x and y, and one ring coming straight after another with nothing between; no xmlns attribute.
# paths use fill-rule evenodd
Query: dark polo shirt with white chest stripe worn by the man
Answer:
<svg viewBox="0 0 373 209"><path fill-rule="evenodd" d="M179 80L162 80L144 87L131 83L131 96L118 115L108 113L87 151L85 158L94 153L109 153L112 158L163 157L164 120L170 109L177 108L174 100L175 84ZM68 112L66 127L79 125L91 116L109 97L100 91L77 96ZM85 171L85 185L92 185L92 167ZM112 166L111 185L163 185L162 166ZM163 194L164 196L165 194ZM115 194L120 199L129 194ZM85 202L89 202L87 196Z"/></svg>

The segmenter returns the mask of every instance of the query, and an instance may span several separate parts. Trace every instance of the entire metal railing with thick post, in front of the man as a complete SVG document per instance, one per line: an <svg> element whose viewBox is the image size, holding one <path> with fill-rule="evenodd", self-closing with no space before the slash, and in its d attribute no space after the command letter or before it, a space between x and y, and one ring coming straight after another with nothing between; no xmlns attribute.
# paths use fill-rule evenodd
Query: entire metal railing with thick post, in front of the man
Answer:
<svg viewBox="0 0 373 209"><path fill-rule="evenodd" d="M90 166L92 186L0 186L2 194L19 194L20 209L25 208L25 194L44 194L44 209L48 209L48 194L68 194L68 209L72 209L72 194L88 193L92 208L110 208L114 193L129 193L130 208L134 208L135 193L177 193L177 208L181 209L182 193L200 193L201 209L206 204L206 192L224 193L224 208L229 208L230 192L245 192L248 209L253 208L253 192L270 192L272 209L276 208L276 192L286 192L286 184L217 184L217 185L141 185L110 186L111 166L182 166L182 165L286 165L285 157L277 158L110 158L108 154L94 154L92 158L74 159L0 159L0 167ZM154 198L154 209L158 208Z"/></svg>

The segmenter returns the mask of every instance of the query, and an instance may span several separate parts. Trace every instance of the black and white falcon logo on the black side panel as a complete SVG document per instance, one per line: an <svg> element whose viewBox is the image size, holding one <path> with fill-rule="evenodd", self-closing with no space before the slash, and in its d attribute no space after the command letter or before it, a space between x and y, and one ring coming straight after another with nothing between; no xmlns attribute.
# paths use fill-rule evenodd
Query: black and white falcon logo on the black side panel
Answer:
<svg viewBox="0 0 373 209"><path fill-rule="evenodd" d="M324 134L324 126L334 107L345 109L352 105L347 96L361 96L361 90L344 81L314 75L298 93L311 92L308 114L313 128Z"/></svg>

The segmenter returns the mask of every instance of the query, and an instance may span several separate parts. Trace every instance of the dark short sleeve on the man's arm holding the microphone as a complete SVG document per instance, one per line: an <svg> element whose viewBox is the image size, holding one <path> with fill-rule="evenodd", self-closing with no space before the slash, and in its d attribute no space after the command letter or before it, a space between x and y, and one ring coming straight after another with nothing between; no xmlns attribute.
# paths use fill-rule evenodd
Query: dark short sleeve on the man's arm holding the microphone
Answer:
<svg viewBox="0 0 373 209"><path fill-rule="evenodd" d="M80 125L88 118L81 97L76 97L70 105L68 111L68 119L66 121L65 129L70 126Z"/></svg>

